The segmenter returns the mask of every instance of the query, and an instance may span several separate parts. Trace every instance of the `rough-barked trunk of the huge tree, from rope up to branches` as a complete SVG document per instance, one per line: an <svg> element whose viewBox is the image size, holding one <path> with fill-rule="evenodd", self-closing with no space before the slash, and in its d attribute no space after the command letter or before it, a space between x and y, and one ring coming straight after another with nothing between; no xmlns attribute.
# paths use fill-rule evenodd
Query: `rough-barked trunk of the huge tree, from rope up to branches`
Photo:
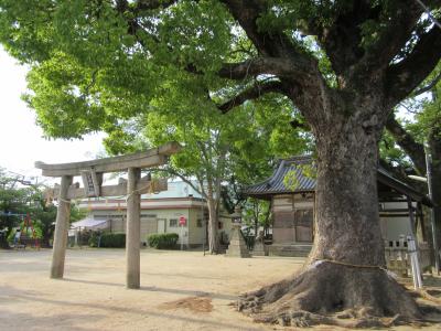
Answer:
<svg viewBox="0 0 441 331"><path fill-rule="evenodd" d="M319 138L316 142L316 227L311 258L384 267L376 135L366 135L356 124L346 127L351 130L332 135L336 139Z"/></svg>

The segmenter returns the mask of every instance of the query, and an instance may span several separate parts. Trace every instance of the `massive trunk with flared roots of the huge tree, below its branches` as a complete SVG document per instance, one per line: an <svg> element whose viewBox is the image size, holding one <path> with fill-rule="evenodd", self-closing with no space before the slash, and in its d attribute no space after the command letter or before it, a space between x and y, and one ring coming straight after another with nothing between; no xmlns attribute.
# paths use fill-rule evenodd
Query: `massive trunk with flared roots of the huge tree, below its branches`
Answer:
<svg viewBox="0 0 441 331"><path fill-rule="evenodd" d="M302 270L247 295L239 309L257 320L337 323L354 317L381 325L420 316L413 299L385 267L376 185L379 129L347 119L318 132L315 239ZM395 318L395 319L394 319ZM387 322L386 322L387 323Z"/></svg>

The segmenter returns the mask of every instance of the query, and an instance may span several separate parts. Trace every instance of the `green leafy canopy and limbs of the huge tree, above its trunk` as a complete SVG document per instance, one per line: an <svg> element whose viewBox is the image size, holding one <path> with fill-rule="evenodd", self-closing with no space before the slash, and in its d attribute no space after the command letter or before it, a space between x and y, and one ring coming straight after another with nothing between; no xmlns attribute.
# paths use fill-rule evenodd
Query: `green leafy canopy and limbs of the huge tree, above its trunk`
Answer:
<svg viewBox="0 0 441 331"><path fill-rule="evenodd" d="M32 65L26 99L52 137L111 131L161 96L226 113L267 93L299 94L294 104L313 122L302 103L320 98L300 85L349 97L374 65L389 111L431 72L440 49L439 29L416 1L3 0L1 8L0 40Z"/></svg>

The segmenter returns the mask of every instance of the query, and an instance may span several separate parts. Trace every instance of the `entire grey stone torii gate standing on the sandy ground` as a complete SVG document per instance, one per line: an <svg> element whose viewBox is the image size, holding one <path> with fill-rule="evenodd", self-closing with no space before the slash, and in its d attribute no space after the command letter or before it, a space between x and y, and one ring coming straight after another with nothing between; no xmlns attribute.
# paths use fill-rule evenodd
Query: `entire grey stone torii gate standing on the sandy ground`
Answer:
<svg viewBox="0 0 441 331"><path fill-rule="evenodd" d="M46 164L35 162L46 177L61 177L60 188L54 189L58 197L55 234L52 252L51 278L63 278L66 256L67 233L71 215L71 200L92 196L127 195L126 228L126 286L140 287L140 211L141 193L166 190L166 180L152 181L141 179L141 169L165 164L168 157L181 150L178 142L169 142L143 152L120 157L97 159L85 162ZM103 174L106 172L128 171L128 180L118 185L103 186ZM73 184L73 178L80 175L84 188Z"/></svg>

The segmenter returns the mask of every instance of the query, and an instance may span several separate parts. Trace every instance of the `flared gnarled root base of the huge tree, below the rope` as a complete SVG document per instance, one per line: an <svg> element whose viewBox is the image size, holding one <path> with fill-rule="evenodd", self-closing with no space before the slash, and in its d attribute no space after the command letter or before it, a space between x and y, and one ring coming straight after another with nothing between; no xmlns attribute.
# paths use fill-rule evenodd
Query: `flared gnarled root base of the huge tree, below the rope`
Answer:
<svg viewBox="0 0 441 331"><path fill-rule="evenodd" d="M383 269L313 263L300 274L246 293L237 309L256 322L311 327L390 328L418 323L416 300Z"/></svg>

